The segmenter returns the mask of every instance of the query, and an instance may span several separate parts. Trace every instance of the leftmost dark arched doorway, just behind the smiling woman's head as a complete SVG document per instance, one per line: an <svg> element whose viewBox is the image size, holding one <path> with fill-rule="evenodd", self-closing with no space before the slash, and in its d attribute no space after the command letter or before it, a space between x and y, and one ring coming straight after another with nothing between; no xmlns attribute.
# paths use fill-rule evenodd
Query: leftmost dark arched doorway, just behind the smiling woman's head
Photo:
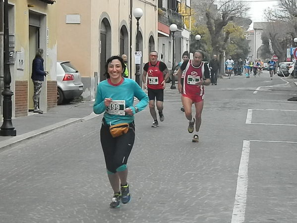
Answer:
<svg viewBox="0 0 297 223"><path fill-rule="evenodd" d="M105 62L111 56L111 26L109 21L104 18L100 24L100 81L105 79Z"/></svg>

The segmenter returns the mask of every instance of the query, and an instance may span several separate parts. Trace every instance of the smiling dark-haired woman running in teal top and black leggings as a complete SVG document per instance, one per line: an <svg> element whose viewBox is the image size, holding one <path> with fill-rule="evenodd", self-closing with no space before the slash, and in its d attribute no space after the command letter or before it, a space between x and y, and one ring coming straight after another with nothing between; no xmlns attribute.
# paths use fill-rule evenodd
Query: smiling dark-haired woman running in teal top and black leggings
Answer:
<svg viewBox="0 0 297 223"><path fill-rule="evenodd" d="M131 200L127 184L127 160L135 139L135 113L148 104L148 96L132 79L122 77L125 64L121 57L109 58L105 65L106 80L97 87L93 110L96 114L104 112L100 130L100 141L104 153L107 174L114 190L111 208L118 208ZM139 102L133 106L134 96ZM110 126L128 123L128 131L116 138L110 133Z"/></svg>

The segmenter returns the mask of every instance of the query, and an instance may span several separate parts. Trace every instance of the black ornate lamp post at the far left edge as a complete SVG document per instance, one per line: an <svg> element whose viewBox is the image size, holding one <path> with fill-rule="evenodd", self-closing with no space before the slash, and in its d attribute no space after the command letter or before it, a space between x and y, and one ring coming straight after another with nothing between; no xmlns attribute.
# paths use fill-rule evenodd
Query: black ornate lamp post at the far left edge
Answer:
<svg viewBox="0 0 297 223"><path fill-rule="evenodd" d="M12 126L11 114L12 114L12 101L11 97L13 92L10 90L11 75L9 69L9 28L8 28L8 2L4 0L3 5L3 49L4 49L4 90L3 95L3 123L0 128L0 136L16 136L16 130Z"/></svg>

